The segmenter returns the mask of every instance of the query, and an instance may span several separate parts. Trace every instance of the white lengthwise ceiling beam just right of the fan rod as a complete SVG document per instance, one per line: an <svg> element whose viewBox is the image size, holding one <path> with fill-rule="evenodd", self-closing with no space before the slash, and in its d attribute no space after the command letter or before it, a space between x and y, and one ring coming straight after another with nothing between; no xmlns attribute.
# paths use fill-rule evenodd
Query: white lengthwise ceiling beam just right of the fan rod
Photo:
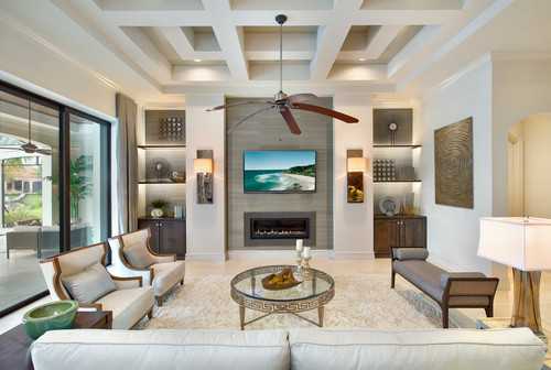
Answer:
<svg viewBox="0 0 551 370"><path fill-rule="evenodd" d="M361 3L361 0L335 0L334 18L317 31L317 52L311 64L311 79L324 80L327 77Z"/></svg>

